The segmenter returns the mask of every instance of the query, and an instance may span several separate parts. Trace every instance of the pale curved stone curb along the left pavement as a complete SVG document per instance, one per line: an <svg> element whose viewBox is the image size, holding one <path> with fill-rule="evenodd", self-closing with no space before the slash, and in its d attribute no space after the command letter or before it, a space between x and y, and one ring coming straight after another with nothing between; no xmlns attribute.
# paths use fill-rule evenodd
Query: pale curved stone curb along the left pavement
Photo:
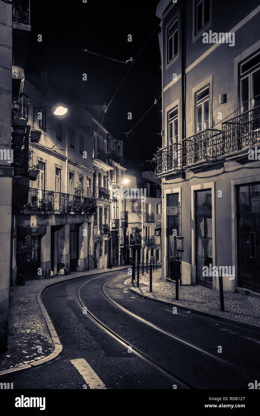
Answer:
<svg viewBox="0 0 260 416"><path fill-rule="evenodd" d="M118 270L124 270L125 268L127 269L127 267L124 267L122 269L117 269L115 271L117 272ZM111 272L111 271L112 270L106 270L103 273L108 273L108 272ZM100 272L100 273L102 273L102 272ZM46 325L47 325L47 329L48 329L48 331L50 333L50 336L52 338L52 342L53 342L54 347L55 347L54 348L54 351L52 351L49 355L47 355L47 357L42 358L41 360L38 360L38 361L36 361L34 363L31 363L31 364L23 364L23 365L21 365L19 367L16 367L16 368L2 370L2 371L0 371L0 376L6 375L6 374L10 374L10 373L14 373L15 371L21 371L21 370L26 370L26 369L29 369L29 368L33 368L33 367L35 367L37 365L44 364L45 362L48 362L48 361L50 361L50 360L52 360L54 358L57 358L61 354L61 352L63 350L63 347L62 347L62 344L60 342L59 337L57 336L57 332L55 331L55 328L52 325L52 321L51 321L49 315L47 314L47 311L46 311L46 309L45 309L45 307L44 307L44 305L42 303L42 300L41 300L42 292L44 292L45 289L47 289L47 287L51 287L51 286L54 286L54 285L58 285L59 283L69 282L70 280L80 279L81 277L88 277L88 276L98 275L100 273L93 273L92 275L85 275L85 276L83 275L83 276L71 277L70 279L65 279L65 280L61 280L60 282L54 282L54 283L51 283L50 285L45 285L45 286L41 287L40 290L38 290L37 295L36 295L36 300L37 300L37 302L38 302L38 304L40 306L40 310L42 312L42 316L45 319L45 322L46 322Z"/></svg>

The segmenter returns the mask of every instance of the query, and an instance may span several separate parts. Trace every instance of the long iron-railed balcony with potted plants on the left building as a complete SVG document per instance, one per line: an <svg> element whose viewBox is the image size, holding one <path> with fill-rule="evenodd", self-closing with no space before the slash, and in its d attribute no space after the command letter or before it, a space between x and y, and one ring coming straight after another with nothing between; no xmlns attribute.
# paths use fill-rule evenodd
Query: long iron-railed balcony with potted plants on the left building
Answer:
<svg viewBox="0 0 260 416"><path fill-rule="evenodd" d="M78 212L92 214L96 211L95 198L85 198L68 193L29 188L28 203L19 206L25 211Z"/></svg>

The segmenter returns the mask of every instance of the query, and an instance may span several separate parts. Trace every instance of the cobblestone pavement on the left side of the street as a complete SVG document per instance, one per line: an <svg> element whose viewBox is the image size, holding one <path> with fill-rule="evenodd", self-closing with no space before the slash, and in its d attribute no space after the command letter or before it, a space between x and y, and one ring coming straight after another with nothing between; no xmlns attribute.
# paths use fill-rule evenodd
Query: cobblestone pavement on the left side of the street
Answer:
<svg viewBox="0 0 260 416"><path fill-rule="evenodd" d="M112 270L125 268L113 267ZM47 329L37 302L37 292L46 285L63 282L71 278L93 275L111 269L73 272L67 276L55 275L49 279L28 280L24 286L10 287L9 295L9 337L7 351L0 354L0 374L2 370L31 364L47 357L54 349L52 338Z"/></svg>

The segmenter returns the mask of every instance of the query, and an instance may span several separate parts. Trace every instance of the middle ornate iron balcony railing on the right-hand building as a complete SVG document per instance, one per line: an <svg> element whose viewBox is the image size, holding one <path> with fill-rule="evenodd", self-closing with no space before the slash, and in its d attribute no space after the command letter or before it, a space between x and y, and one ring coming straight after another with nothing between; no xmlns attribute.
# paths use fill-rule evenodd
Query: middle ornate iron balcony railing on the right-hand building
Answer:
<svg viewBox="0 0 260 416"><path fill-rule="evenodd" d="M206 129L183 139L183 166L210 162L222 156L221 131Z"/></svg>

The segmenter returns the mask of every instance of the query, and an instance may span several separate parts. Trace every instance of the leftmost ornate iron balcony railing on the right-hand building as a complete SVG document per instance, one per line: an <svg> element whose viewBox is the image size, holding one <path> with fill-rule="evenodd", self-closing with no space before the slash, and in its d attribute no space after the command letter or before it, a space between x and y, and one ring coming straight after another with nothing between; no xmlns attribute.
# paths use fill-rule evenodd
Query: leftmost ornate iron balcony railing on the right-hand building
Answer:
<svg viewBox="0 0 260 416"><path fill-rule="evenodd" d="M157 152L157 173L182 169L182 145L170 144Z"/></svg>

